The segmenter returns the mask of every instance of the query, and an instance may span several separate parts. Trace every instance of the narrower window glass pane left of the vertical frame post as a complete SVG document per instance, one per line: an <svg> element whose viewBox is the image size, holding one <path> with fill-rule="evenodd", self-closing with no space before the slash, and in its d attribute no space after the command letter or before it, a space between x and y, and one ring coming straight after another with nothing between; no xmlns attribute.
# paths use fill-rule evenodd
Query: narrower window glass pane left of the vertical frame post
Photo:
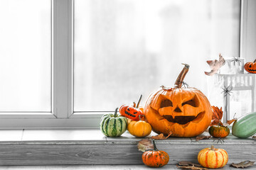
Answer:
<svg viewBox="0 0 256 170"><path fill-rule="evenodd" d="M0 0L0 111L50 111L50 0Z"/></svg>

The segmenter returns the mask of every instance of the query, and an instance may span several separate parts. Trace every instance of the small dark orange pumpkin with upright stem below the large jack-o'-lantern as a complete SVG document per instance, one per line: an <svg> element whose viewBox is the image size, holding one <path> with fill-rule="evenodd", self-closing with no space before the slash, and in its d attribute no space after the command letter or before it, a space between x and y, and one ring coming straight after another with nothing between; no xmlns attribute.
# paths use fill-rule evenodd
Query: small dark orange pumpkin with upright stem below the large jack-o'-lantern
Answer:
<svg viewBox="0 0 256 170"><path fill-rule="evenodd" d="M164 151L159 151L156 148L156 144L153 140L154 149L152 151L146 151L142 154L142 161L145 165L151 167L161 167L169 162L169 154Z"/></svg>

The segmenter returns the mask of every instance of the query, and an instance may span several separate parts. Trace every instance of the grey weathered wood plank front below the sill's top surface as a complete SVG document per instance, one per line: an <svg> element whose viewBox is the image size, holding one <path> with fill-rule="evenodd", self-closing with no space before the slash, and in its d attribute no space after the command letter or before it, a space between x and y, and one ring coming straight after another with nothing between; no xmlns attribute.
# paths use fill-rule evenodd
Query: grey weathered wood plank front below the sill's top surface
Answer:
<svg viewBox="0 0 256 170"><path fill-rule="evenodd" d="M158 144L174 160L197 162L197 153L208 144ZM215 145L229 154L229 162L255 161L256 145ZM54 165L54 164L143 164L142 152L134 144L15 144L0 145L0 165Z"/></svg>

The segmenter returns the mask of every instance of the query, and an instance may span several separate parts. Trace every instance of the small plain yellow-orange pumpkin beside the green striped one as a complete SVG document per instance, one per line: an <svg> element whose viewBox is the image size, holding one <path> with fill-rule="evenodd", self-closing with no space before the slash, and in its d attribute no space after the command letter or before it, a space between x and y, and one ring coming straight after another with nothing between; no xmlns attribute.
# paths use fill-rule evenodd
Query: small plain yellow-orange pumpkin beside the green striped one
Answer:
<svg viewBox="0 0 256 170"><path fill-rule="evenodd" d="M139 117L139 121L128 120L127 130L135 137L146 137L151 133L152 128L149 123L146 123Z"/></svg>

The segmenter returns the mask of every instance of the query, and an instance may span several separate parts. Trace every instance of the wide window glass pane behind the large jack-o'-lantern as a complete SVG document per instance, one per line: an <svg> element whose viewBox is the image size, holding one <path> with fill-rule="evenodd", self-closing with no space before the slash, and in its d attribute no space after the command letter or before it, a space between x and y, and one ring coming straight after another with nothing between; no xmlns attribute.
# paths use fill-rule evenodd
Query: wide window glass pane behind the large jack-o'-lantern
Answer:
<svg viewBox="0 0 256 170"><path fill-rule="evenodd" d="M239 56L240 0L75 0L74 31L75 111L144 103L181 63L206 94L206 60Z"/></svg>

